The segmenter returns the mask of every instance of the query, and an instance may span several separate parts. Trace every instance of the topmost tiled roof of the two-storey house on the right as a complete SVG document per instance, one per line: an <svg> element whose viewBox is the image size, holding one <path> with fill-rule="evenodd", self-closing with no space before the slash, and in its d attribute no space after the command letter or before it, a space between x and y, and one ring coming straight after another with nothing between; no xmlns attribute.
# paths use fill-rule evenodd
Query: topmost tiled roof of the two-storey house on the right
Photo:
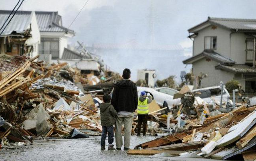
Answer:
<svg viewBox="0 0 256 161"><path fill-rule="evenodd" d="M238 19L238 18L217 18L208 17L208 19L194 27L188 29L190 33L208 27L209 25L217 25L231 30L256 31L256 19Z"/></svg>

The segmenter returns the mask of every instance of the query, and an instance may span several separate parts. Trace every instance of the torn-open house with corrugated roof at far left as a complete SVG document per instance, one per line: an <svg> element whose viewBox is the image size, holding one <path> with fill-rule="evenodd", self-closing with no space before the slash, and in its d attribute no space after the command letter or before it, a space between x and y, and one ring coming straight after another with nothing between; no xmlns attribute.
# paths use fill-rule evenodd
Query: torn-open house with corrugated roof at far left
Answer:
<svg viewBox="0 0 256 161"><path fill-rule="evenodd" d="M0 26L11 11L0 11ZM2 30L1 30L2 31ZM38 54L40 33L35 12L17 12L0 35L0 53L9 55L26 54L31 58Z"/></svg>

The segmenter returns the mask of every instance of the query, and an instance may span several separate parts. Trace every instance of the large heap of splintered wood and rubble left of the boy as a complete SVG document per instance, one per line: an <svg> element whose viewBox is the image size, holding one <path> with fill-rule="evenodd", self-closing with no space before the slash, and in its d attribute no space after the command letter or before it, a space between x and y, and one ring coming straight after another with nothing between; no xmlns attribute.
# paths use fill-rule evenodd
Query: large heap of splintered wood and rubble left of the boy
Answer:
<svg viewBox="0 0 256 161"><path fill-rule="evenodd" d="M98 77L81 74L67 63L48 65L34 62L36 58L0 56L2 147L32 143L37 137L100 135L97 107L102 103L102 93L110 93L113 81L120 76L109 71L102 71ZM111 86L101 89L101 93L83 89L92 84L104 86L104 83Z"/></svg>

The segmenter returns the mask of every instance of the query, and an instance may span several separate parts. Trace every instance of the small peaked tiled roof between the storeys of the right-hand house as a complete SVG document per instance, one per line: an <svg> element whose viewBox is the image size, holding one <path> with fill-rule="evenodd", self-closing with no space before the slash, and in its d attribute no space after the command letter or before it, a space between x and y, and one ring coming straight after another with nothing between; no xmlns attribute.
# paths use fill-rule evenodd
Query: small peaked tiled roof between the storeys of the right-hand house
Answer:
<svg viewBox="0 0 256 161"><path fill-rule="evenodd" d="M222 56L221 54L214 52L213 50L204 50L201 54L197 54L195 56L192 56L191 58L184 60L183 63L193 64L193 62L196 62L197 60L200 60L202 58L209 58L226 65L235 64L235 61L233 59Z"/></svg>

